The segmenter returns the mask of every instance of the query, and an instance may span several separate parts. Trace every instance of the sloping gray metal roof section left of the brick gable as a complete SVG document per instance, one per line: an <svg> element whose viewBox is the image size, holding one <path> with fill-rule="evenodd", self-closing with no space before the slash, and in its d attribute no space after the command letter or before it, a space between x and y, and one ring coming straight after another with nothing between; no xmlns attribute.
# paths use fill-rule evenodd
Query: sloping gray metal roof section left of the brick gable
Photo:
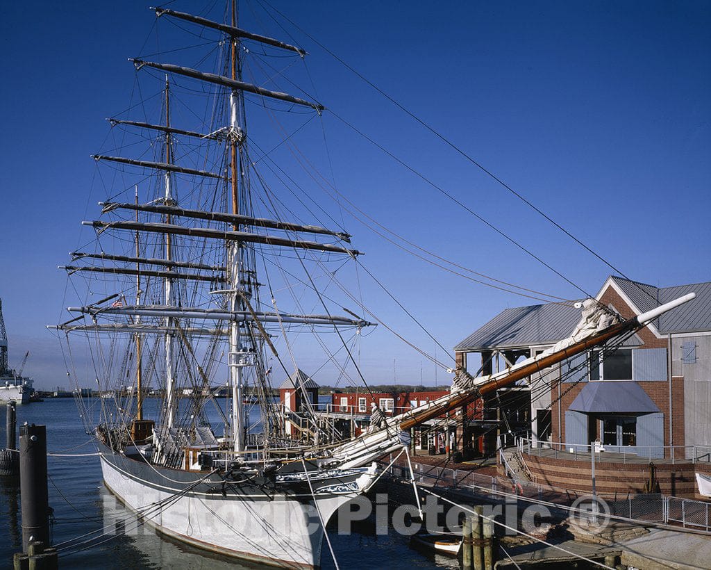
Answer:
<svg viewBox="0 0 711 570"><path fill-rule="evenodd" d="M557 303L507 309L459 342L454 350L552 344L569 336L579 320L579 309Z"/></svg>

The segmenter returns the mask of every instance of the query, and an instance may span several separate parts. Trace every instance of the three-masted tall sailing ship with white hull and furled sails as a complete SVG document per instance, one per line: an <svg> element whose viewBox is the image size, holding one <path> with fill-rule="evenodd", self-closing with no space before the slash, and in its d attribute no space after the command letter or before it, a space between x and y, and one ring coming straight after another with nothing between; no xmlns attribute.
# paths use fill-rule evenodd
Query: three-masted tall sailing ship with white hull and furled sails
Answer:
<svg viewBox="0 0 711 570"><path fill-rule="evenodd" d="M110 396L100 399L100 423L87 430L95 434L103 479L114 495L160 532L193 546L268 564L313 567L321 562L328 520L378 480L377 460L406 445L402 431L634 332L688 299L629 321L605 307L587 306L573 337L549 351L492 376L474 378L456 370L449 395L391 417L376 410L378 421L354 438L334 441L324 433L304 393L309 425L300 438L288 437L283 411L270 398L270 378L272 369L296 378L289 338L303 331L335 332L355 365L343 331L357 336L373 323L356 310L333 310L306 268L355 260L360 252L351 247L351 236L341 228L278 216L286 208L266 187L260 161L250 154L245 97L256 97L267 114L272 105L318 114L324 107L245 80L245 55L256 49L247 46L296 58L306 52L239 28L234 3L228 14L229 23L218 23L156 9L156 16L181 27L202 28L201 38L216 34L225 60L210 72L132 60L139 73L159 74L162 120L116 117L110 122L121 130L120 137L138 133L146 152L154 155L94 156L120 169L116 185L107 189L112 197L100 203L102 219L83 222L95 231L93 247L73 252L72 263L63 269L85 285L86 299L100 291L102 298L68 307L72 318L55 328L67 339L87 340L97 389ZM174 83L189 83L208 100L209 113L199 117L203 128L173 120ZM122 178L127 172L149 175L134 186ZM272 174L288 176L276 166ZM274 216L259 217L258 208ZM109 246L112 250L105 250ZM287 259L303 270L301 275L287 267ZM266 276L258 275L269 268ZM292 278L315 301L301 302L269 273ZM296 310L282 310L284 295ZM223 411L213 393L225 379L230 406ZM245 386L260 396L259 431L247 426ZM151 418L145 401L149 389L161 395ZM186 389L191 396L181 399ZM304 386L296 383L294 389L304 391ZM213 405L222 415L221 435L206 419L205 410ZM88 421L91 414L82 417Z"/></svg>

